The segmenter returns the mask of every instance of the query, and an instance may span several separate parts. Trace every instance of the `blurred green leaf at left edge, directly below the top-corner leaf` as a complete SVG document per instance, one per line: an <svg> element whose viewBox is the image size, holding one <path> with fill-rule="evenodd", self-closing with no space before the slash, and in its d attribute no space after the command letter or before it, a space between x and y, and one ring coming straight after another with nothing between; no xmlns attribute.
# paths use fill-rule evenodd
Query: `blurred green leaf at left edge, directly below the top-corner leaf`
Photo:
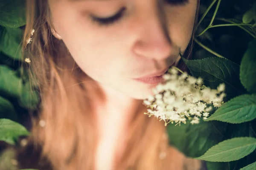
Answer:
<svg viewBox="0 0 256 170"><path fill-rule="evenodd" d="M0 51L12 59L22 59L22 36L20 28L4 28L0 37Z"/></svg>

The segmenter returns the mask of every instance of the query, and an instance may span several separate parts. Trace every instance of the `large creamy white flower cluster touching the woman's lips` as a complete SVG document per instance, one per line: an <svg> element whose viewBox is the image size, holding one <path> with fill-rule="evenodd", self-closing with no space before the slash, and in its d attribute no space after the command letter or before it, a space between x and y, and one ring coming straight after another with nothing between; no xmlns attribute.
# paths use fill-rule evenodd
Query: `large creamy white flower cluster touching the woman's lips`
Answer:
<svg viewBox="0 0 256 170"><path fill-rule="evenodd" d="M175 67L163 75L165 84L159 84L151 95L143 101L147 106L149 116L155 116L168 123L198 124L200 117L207 119L209 111L220 107L223 103L225 85L220 84L217 89L203 85L203 79L189 76L186 72L178 75ZM176 125L177 125L176 124Z"/></svg>

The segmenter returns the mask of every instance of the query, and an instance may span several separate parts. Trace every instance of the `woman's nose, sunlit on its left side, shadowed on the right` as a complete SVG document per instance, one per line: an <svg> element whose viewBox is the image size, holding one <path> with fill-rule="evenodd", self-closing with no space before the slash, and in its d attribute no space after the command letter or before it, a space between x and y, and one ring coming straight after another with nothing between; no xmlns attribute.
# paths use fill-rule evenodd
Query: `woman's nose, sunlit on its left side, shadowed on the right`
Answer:
<svg viewBox="0 0 256 170"><path fill-rule="evenodd" d="M154 60L166 60L170 57L173 47L166 28L167 23L163 17L159 10L155 10L155 12L148 10L147 13L144 12L137 17L137 39L133 45L134 54Z"/></svg>

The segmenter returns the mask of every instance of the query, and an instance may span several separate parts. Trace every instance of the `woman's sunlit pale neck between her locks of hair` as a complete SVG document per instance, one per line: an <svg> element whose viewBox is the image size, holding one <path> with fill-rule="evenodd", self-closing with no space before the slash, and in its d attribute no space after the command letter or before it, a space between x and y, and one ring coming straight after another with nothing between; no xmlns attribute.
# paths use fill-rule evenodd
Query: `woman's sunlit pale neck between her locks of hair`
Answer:
<svg viewBox="0 0 256 170"><path fill-rule="evenodd" d="M143 101L96 82L89 90L98 131L96 169L112 169L124 151L125 134L133 117L144 108Z"/></svg>

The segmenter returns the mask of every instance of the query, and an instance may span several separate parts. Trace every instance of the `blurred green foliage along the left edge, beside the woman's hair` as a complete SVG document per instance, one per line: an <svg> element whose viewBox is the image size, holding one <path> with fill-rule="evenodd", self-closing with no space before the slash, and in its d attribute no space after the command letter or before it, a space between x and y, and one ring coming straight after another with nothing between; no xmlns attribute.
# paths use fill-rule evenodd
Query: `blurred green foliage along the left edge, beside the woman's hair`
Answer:
<svg viewBox="0 0 256 170"><path fill-rule="evenodd" d="M0 141L12 145L19 136L29 135L20 124L39 102L27 71L21 67L25 5L25 0L0 0Z"/></svg>

